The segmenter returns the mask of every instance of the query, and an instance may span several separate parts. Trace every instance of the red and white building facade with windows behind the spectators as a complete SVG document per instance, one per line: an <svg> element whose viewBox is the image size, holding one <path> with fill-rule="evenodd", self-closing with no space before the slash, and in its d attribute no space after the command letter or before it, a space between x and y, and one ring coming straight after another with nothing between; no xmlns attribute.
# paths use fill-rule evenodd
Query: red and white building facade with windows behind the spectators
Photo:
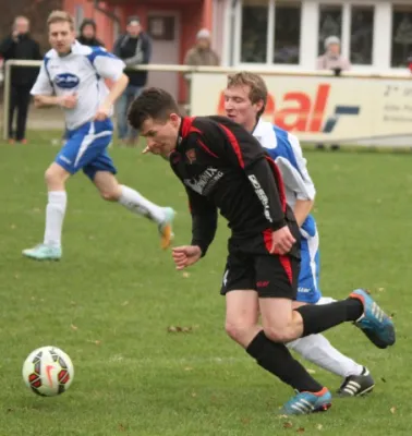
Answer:
<svg viewBox="0 0 412 436"><path fill-rule="evenodd" d="M207 27L222 65L244 69L314 70L324 40L336 35L353 71L404 70L412 55L411 0L62 0L76 23L93 17L111 49L126 17L138 15L154 40L153 63L179 64ZM180 100L177 73L150 73Z"/></svg>

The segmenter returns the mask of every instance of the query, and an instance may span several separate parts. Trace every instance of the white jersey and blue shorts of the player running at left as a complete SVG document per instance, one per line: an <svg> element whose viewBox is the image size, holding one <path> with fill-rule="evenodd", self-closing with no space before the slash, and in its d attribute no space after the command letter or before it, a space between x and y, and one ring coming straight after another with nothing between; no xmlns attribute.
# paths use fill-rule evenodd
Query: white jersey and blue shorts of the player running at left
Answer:
<svg viewBox="0 0 412 436"><path fill-rule="evenodd" d="M64 57L53 49L45 56L32 95L77 95L75 108L63 108L66 143L56 157L56 162L71 174L80 169L90 179L96 171L116 173L107 153L113 135L112 122L94 121L94 117L109 94L105 80L118 81L123 69L123 61L104 48L78 41Z"/></svg>

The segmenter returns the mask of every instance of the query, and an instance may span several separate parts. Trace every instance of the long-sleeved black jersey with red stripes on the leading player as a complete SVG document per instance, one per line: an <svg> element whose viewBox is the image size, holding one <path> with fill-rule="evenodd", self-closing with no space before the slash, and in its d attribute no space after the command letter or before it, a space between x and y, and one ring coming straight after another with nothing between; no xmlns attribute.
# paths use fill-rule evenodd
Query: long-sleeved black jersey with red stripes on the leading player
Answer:
<svg viewBox="0 0 412 436"><path fill-rule="evenodd" d="M203 254L215 237L217 209L239 238L280 229L287 215L294 220L276 165L252 134L228 118L183 118L170 165L186 189L192 244Z"/></svg>

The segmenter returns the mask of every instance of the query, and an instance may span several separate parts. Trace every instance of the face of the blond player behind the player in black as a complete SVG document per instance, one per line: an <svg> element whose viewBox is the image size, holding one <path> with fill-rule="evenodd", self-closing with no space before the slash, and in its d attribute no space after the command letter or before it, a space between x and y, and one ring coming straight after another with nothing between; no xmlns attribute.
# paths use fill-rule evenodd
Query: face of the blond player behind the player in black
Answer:
<svg viewBox="0 0 412 436"><path fill-rule="evenodd" d="M231 86L225 90L226 116L247 130L256 124L257 112L263 102L253 104L250 99L251 87L245 85Z"/></svg>

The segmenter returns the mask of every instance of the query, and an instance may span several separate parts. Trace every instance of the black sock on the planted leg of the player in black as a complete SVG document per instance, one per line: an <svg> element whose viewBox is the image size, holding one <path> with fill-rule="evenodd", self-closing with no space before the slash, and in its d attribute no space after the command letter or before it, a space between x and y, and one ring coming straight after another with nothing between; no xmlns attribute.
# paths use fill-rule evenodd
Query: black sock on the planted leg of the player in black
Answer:
<svg viewBox="0 0 412 436"><path fill-rule="evenodd" d="M259 331L246 349L252 358L269 373L299 391L318 392L323 389L307 371L292 358L283 343L269 340Z"/></svg>

